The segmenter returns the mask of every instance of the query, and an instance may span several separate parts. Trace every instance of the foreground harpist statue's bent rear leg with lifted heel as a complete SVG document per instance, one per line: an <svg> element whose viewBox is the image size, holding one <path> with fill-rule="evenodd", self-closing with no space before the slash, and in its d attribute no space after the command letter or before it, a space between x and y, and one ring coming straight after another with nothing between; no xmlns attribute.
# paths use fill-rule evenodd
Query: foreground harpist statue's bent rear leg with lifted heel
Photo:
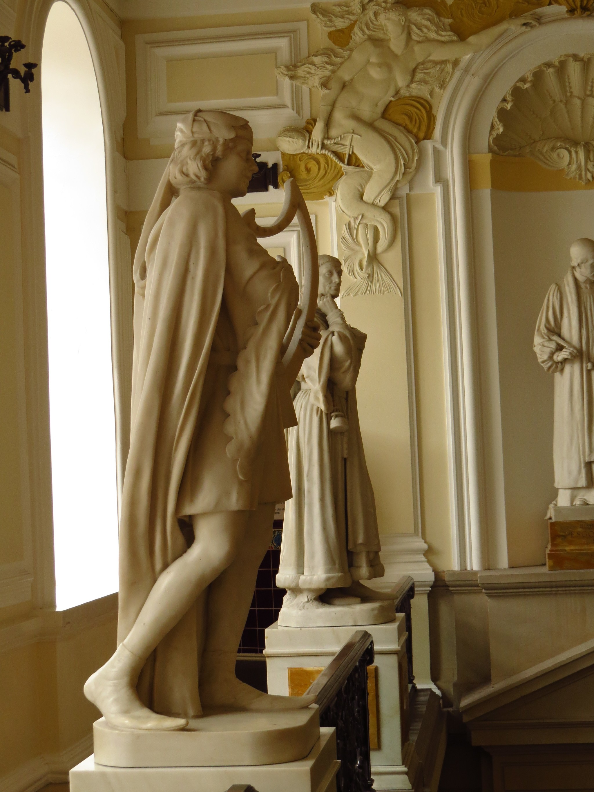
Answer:
<svg viewBox="0 0 594 792"><path fill-rule="evenodd" d="M184 718L168 718L143 706L136 683L158 643L204 588L233 562L242 546L248 516L249 512L218 512L194 518L194 543L158 577L124 642L86 682L86 698L109 724L157 730L188 725Z"/></svg>

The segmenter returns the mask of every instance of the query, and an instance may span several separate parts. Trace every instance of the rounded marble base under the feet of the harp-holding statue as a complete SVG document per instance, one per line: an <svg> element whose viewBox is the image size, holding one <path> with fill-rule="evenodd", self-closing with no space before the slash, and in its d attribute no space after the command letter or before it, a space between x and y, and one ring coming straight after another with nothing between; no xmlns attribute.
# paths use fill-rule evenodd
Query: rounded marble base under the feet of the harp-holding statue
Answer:
<svg viewBox="0 0 594 792"><path fill-rule="evenodd" d="M110 767L216 767L295 762L320 737L318 707L303 710L213 710L178 732L93 724L95 762Z"/></svg>

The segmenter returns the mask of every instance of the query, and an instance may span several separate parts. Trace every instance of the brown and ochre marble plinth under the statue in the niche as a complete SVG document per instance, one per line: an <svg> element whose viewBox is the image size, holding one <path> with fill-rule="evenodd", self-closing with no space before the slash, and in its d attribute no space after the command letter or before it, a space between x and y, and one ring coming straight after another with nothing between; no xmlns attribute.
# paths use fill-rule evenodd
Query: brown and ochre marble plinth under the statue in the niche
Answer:
<svg viewBox="0 0 594 792"><path fill-rule="evenodd" d="M552 506L546 568L594 569L594 506Z"/></svg>

